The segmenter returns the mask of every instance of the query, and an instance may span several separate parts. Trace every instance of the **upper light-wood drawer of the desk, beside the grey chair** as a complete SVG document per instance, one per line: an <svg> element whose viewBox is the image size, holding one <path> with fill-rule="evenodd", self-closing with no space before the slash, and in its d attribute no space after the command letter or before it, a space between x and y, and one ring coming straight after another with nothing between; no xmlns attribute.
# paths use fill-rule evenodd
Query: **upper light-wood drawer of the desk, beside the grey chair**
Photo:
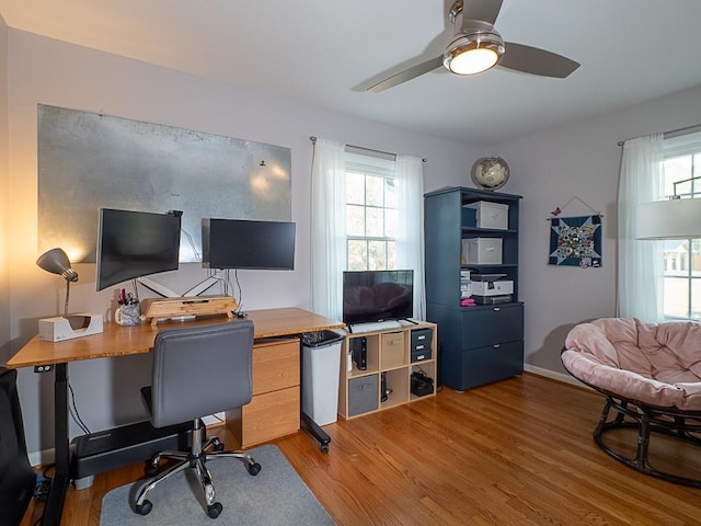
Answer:
<svg viewBox="0 0 701 526"><path fill-rule="evenodd" d="M255 343L253 396L299 386L299 340L264 340Z"/></svg>

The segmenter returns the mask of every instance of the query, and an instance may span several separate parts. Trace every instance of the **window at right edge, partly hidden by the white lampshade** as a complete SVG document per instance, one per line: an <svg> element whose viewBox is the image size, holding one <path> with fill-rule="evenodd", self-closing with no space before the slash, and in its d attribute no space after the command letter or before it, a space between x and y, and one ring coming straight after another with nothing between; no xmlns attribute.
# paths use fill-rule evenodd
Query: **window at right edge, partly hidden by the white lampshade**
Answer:
<svg viewBox="0 0 701 526"><path fill-rule="evenodd" d="M701 198L701 140L664 142L665 196ZM663 305L665 318L701 318L701 239L667 240L664 260Z"/></svg>

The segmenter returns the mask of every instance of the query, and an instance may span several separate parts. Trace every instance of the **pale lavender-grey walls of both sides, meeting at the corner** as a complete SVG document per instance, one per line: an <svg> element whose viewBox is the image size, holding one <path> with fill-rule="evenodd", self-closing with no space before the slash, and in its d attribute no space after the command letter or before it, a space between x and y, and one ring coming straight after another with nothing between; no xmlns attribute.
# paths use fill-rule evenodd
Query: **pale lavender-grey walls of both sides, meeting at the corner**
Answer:
<svg viewBox="0 0 701 526"><path fill-rule="evenodd" d="M5 57L7 67L2 64ZM483 155L501 155L512 168L504 191L524 195L520 294L526 301L528 367L555 374L563 370L559 354L568 329L616 312L614 204L621 151L617 142L701 123L699 88L484 149L15 30L8 33L2 23L0 82L8 88L7 104L0 100L0 205L7 205L0 213L0 316L4 315L4 321L0 318L0 346L10 347L5 358L36 333L38 318L61 308L65 287L60 278L34 264L38 103L291 148L292 220L298 225L296 270L240 273L246 309L310 306L310 135L425 157L426 191L472 186L472 162ZM575 196L605 215L602 268L583 271L545 264L545 219L550 210ZM564 211L578 215L589 210L573 204ZM11 258L5 258L8 247L12 247ZM80 282L71 288L71 310L107 312L111 291L94 291L94 265L78 265L78 271ZM159 279L184 289L203 276L203 270L189 264ZM148 382L149 366L148 356L70 366L79 411L92 431L142 416L138 388ZM53 447L53 377L21 370L20 396L30 451ZM71 431L78 433L73 427Z"/></svg>

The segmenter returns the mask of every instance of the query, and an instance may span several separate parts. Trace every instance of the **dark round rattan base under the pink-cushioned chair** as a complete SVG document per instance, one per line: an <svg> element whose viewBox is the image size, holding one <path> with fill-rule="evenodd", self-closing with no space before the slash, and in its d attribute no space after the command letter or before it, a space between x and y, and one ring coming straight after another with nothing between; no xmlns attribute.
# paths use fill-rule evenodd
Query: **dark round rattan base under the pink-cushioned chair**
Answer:
<svg viewBox="0 0 701 526"><path fill-rule="evenodd" d="M613 418L609 414L614 411ZM628 420L627 420L628 419ZM635 457L629 458L609 446L604 436L614 430L636 430L637 444ZM653 408L640 402L607 396L599 424L594 432L594 441L610 457L619 462L652 477L676 484L701 488L701 478L686 477L654 468L650 464L651 435L660 434L701 447L701 413L673 409Z"/></svg>

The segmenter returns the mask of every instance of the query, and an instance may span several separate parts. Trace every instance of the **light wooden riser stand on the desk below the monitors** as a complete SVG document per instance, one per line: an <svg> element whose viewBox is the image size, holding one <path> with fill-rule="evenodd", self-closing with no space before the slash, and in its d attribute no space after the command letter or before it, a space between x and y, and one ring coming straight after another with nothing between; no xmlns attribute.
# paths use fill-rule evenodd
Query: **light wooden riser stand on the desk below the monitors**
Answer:
<svg viewBox="0 0 701 526"><path fill-rule="evenodd" d="M145 299L141 301L141 319L156 327L159 321L184 316L225 315L233 318L237 300L231 296L185 296L179 298Z"/></svg>

